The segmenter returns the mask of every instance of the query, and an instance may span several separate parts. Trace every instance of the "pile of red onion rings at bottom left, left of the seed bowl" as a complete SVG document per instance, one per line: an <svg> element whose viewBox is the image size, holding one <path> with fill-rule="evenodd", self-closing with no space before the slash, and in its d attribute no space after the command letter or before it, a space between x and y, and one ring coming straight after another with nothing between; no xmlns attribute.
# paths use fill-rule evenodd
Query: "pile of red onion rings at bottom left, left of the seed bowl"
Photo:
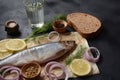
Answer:
<svg viewBox="0 0 120 80"><path fill-rule="evenodd" d="M14 66L3 66L0 68L0 80L20 80L20 75L21 75L21 71L19 68L14 67ZM12 73L15 73L16 76L12 79L8 79L6 78L7 75L10 75Z"/></svg>

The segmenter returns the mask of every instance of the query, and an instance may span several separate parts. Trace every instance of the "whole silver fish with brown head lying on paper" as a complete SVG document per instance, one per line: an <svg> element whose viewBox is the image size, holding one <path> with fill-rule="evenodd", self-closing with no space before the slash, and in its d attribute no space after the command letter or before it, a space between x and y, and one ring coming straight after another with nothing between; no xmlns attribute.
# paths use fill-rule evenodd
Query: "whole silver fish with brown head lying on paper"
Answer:
<svg viewBox="0 0 120 80"><path fill-rule="evenodd" d="M48 44L32 47L21 52L15 53L0 61L0 66L12 64L21 66L31 61L44 63L57 59L75 47L75 41L52 42Z"/></svg>

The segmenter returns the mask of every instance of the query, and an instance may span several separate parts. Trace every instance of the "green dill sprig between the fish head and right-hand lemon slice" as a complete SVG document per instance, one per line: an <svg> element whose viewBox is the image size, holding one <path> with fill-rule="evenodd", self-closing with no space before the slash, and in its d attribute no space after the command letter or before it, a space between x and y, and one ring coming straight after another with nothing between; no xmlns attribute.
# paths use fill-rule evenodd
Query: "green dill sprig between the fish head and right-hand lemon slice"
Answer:
<svg viewBox="0 0 120 80"><path fill-rule="evenodd" d="M77 50L76 53L75 53L74 55L69 56L69 57L65 60L66 65L69 65L69 64L72 62L73 59L82 58L82 56L83 56L86 48L83 47L83 46L81 46L81 45L78 46L77 48L78 48L78 49L76 49L76 50Z"/></svg>

